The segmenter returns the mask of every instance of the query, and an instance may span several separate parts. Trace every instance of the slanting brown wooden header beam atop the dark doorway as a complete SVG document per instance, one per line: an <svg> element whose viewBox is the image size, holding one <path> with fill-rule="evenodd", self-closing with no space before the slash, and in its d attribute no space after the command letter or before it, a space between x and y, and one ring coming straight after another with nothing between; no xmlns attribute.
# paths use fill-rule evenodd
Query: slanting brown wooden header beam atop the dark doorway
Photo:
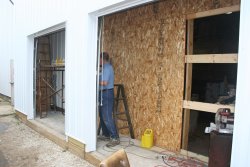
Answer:
<svg viewBox="0 0 250 167"><path fill-rule="evenodd" d="M213 9L213 10L207 10L204 12L187 14L186 19L187 20L197 19L197 18L202 18L202 17L214 16L214 15L219 15L219 14L225 14L228 12L238 12L238 11L240 11L240 5L235 5L235 6L218 8L218 9Z"/></svg>

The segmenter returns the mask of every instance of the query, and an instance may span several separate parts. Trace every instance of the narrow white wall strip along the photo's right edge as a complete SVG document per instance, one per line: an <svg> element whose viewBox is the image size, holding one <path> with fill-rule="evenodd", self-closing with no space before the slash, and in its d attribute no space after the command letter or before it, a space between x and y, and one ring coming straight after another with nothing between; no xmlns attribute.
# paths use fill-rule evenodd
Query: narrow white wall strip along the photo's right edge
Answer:
<svg viewBox="0 0 250 167"><path fill-rule="evenodd" d="M250 1L241 0L237 94L231 166L250 166Z"/></svg>

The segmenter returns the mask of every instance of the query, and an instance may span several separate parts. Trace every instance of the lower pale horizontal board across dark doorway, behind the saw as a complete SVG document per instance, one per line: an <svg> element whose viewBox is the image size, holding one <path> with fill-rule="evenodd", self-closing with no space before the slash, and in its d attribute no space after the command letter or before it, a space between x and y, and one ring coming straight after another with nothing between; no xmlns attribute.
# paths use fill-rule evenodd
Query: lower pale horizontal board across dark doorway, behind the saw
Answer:
<svg viewBox="0 0 250 167"><path fill-rule="evenodd" d="M211 113L216 113L219 108L229 108L231 112L234 112L234 106L231 105L203 103L188 100L183 101L183 108Z"/></svg>

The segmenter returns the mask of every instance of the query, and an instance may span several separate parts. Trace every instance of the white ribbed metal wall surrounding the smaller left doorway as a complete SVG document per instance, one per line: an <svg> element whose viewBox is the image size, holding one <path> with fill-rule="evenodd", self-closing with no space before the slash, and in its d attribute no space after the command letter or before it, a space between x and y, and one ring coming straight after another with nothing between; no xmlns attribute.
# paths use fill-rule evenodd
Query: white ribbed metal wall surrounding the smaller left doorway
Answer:
<svg viewBox="0 0 250 167"><path fill-rule="evenodd" d="M96 55L87 54L93 32L89 13L120 1L15 1L15 109L33 119L34 37L65 23L65 133L86 143L87 151L96 146Z"/></svg>

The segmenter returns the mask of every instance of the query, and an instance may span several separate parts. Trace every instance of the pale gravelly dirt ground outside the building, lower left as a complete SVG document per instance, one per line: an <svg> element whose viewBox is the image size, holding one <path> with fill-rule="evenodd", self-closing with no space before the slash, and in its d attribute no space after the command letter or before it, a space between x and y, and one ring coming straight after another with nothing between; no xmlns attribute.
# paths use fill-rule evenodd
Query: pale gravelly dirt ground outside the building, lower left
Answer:
<svg viewBox="0 0 250 167"><path fill-rule="evenodd" d="M92 167L15 118L0 99L0 167Z"/></svg>

